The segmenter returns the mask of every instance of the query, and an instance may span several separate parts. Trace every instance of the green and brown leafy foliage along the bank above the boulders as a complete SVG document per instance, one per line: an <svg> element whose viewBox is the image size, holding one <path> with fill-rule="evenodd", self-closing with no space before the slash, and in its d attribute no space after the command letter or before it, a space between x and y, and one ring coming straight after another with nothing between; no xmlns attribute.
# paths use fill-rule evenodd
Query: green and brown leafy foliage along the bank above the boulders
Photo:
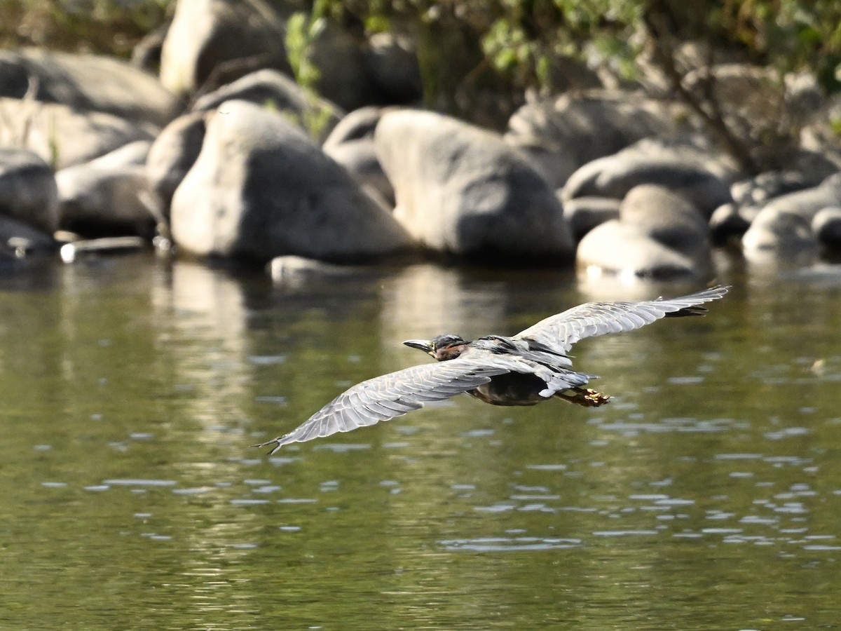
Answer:
<svg viewBox="0 0 841 631"><path fill-rule="evenodd" d="M679 59L689 41L709 60L727 50L779 77L805 71L828 92L841 88L838 0L265 1L287 19L288 56L302 85L319 81L310 52L327 21L357 33L399 33L415 42L426 103L483 124L489 123L483 109L495 108L490 118L500 124L527 90L566 89L570 60L628 79L639 76L644 55L690 101L681 82L693 68ZM0 45L126 56L174 6L175 0L0 0ZM690 105L702 118L706 107L705 122L717 125L728 151L738 154L717 107ZM786 133L794 137L796 130ZM740 159L749 162L744 152Z"/></svg>

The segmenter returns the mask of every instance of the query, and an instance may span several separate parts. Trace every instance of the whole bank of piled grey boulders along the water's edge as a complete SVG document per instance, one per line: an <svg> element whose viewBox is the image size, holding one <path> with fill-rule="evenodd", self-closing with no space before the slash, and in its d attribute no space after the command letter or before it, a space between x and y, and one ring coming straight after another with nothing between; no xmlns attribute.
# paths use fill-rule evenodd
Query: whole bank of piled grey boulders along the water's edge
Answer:
<svg viewBox="0 0 841 631"><path fill-rule="evenodd" d="M799 264L841 247L841 103L807 78L783 95L799 145L756 175L650 90L533 98L500 133L422 108L405 41L329 32L315 93L290 78L270 8L197 8L177 4L156 75L0 51L0 261L157 236L178 256L257 264L447 257L707 280L722 244ZM735 86L728 115L761 138L762 69L715 70Z"/></svg>

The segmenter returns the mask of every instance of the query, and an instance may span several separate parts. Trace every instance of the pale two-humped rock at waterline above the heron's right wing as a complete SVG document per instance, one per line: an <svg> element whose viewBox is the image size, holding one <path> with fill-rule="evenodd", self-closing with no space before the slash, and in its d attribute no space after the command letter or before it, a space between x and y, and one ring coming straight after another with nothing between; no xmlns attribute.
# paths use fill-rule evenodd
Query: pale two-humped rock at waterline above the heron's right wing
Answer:
<svg viewBox="0 0 841 631"><path fill-rule="evenodd" d="M657 186L639 186L622 201L619 219L584 236L577 264L588 273L706 278L712 265L709 230L685 199Z"/></svg>

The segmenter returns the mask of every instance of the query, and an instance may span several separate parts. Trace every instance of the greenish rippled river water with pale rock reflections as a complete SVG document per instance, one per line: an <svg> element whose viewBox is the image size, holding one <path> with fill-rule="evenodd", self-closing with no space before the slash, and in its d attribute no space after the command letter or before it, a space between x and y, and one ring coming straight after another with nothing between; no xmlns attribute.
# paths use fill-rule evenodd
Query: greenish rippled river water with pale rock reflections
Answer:
<svg viewBox="0 0 841 631"><path fill-rule="evenodd" d="M841 270L584 340L611 405L467 396L283 448L407 338L700 289L151 255L0 270L0 628L841 628Z"/></svg>

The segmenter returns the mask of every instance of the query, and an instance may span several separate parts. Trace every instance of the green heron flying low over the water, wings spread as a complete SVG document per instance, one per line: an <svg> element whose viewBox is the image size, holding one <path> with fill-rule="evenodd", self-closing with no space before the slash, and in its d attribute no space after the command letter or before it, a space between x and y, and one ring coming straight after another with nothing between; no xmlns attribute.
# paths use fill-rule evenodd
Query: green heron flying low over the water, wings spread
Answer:
<svg viewBox="0 0 841 631"><path fill-rule="evenodd" d="M452 333L431 340L407 340L438 360L362 381L338 395L309 420L267 443L275 453L288 443L303 443L388 421L428 401L466 392L495 406L533 406L558 398L595 407L611 397L584 388L595 374L572 369L569 349L584 337L633 331L663 317L704 315L701 305L727 293L722 286L671 300L590 302L529 326L515 336L488 335L468 342Z"/></svg>

